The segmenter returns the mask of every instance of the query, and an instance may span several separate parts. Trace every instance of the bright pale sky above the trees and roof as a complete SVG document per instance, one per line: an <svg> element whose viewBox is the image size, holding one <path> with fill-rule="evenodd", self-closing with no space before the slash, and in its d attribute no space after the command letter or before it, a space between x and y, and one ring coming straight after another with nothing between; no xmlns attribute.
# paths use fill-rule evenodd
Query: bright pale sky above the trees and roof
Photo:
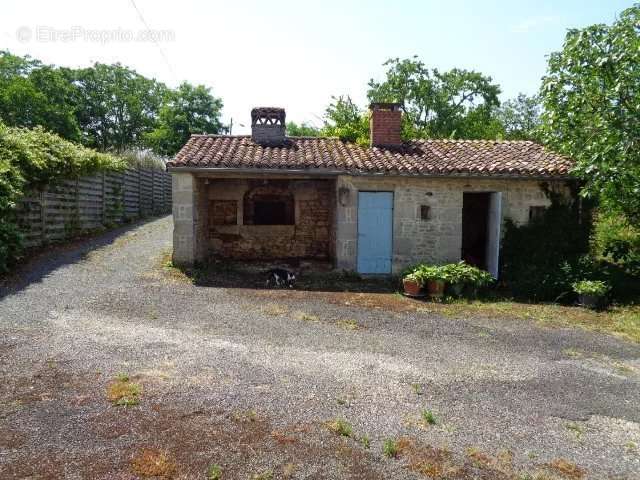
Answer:
<svg viewBox="0 0 640 480"><path fill-rule="evenodd" d="M251 107L283 106L288 119L316 125L331 95L363 106L371 77L389 57L490 75L502 98L537 91L545 56L569 28L611 23L631 0L348 1L153 0L5 1L0 48L47 63L116 62L170 85L203 83L225 102L234 133ZM157 43L98 41L114 29L168 31ZM55 31L57 39L37 32ZM26 34L24 32L27 32ZM64 32L74 36L63 40ZM17 32L21 32L19 36ZM81 33L79 33L81 32ZM96 33L98 32L98 33ZM240 125L245 125L243 128Z"/></svg>

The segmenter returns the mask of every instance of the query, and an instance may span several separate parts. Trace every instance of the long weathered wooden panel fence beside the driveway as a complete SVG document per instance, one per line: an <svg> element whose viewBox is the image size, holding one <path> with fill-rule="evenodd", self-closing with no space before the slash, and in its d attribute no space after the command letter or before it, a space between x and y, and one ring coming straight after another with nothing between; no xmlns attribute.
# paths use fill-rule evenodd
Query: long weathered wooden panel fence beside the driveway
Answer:
<svg viewBox="0 0 640 480"><path fill-rule="evenodd" d="M25 196L16 208L27 247L170 212L171 176L132 168L48 185Z"/></svg>

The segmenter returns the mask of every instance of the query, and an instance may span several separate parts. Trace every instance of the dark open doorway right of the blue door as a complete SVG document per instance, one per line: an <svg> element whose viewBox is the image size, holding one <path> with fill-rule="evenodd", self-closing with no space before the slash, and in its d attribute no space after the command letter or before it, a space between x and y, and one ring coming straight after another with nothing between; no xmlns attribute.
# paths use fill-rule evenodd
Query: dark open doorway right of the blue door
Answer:
<svg viewBox="0 0 640 480"><path fill-rule="evenodd" d="M490 193L464 193L462 197L462 259L487 269L487 233Z"/></svg>

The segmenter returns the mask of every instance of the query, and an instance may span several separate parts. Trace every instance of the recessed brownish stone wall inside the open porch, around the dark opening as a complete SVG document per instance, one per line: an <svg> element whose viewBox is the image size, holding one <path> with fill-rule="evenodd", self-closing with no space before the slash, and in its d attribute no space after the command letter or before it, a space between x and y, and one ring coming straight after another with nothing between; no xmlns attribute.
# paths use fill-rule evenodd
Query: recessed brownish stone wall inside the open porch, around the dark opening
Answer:
<svg viewBox="0 0 640 480"><path fill-rule="evenodd" d="M334 188L332 180L208 179L208 253L237 259L332 259ZM279 194L293 197L293 224L255 224L251 198ZM216 205L224 214L214 219ZM231 224L229 212L234 208L236 218Z"/></svg>

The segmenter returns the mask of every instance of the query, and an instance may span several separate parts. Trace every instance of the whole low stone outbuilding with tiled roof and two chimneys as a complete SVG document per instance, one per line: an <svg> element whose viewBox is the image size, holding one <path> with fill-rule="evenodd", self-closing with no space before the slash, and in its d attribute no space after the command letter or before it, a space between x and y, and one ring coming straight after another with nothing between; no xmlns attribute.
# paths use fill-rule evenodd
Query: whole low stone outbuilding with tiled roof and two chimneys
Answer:
<svg viewBox="0 0 640 480"><path fill-rule="evenodd" d="M193 135L167 164L173 260L322 260L363 274L460 259L498 274L506 218L528 222L572 162L530 141L402 141L396 104L371 105L371 145L288 137L255 108L252 134Z"/></svg>

